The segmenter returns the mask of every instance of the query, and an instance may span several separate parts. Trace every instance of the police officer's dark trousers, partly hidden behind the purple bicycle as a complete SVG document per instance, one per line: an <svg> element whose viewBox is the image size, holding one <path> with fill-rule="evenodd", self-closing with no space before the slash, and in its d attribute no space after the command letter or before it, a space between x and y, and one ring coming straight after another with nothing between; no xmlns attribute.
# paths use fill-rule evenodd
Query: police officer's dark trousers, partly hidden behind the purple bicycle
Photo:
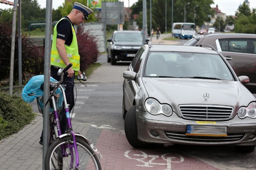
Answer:
<svg viewBox="0 0 256 170"><path fill-rule="evenodd" d="M60 81L60 76L57 75L59 68L55 68L54 66L51 66L51 77L56 79L57 81ZM69 104L69 110L71 111L74 107L74 76L68 77L68 73L64 73L62 87L65 88L65 94L66 94L66 100ZM63 106L64 107L64 106ZM64 134L65 131L68 128L67 120L66 120L66 112L64 108L62 109L62 112L59 114L59 121L60 121L60 130L61 133ZM40 139L43 139L43 132L40 137Z"/></svg>

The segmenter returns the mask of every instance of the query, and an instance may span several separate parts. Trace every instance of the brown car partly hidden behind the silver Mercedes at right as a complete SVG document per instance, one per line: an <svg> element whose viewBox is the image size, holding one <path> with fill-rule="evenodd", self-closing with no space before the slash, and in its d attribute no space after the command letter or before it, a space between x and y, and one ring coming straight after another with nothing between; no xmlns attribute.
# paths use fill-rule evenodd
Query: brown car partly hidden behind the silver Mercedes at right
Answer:
<svg viewBox="0 0 256 170"><path fill-rule="evenodd" d="M237 76L248 76L246 88L256 94L256 34L222 33L197 35L184 45L209 44L219 51Z"/></svg>

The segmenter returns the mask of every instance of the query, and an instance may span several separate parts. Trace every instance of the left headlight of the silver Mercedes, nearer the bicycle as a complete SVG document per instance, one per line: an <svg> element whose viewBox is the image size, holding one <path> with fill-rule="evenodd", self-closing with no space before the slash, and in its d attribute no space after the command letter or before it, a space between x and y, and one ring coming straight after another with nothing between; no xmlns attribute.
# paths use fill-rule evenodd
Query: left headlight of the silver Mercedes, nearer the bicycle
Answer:
<svg viewBox="0 0 256 170"><path fill-rule="evenodd" d="M145 101L145 107L147 111L152 115L172 115L172 107L168 104L160 104L157 100L153 98L148 98Z"/></svg>

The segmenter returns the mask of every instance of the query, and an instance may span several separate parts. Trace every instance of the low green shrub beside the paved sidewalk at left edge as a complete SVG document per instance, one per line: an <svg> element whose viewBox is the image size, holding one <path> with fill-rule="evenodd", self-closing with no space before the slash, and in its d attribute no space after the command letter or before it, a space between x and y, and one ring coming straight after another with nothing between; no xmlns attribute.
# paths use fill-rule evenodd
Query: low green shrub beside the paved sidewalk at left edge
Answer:
<svg viewBox="0 0 256 170"><path fill-rule="evenodd" d="M17 133L34 118L32 106L28 105L18 95L8 95L0 92L0 140Z"/></svg>

